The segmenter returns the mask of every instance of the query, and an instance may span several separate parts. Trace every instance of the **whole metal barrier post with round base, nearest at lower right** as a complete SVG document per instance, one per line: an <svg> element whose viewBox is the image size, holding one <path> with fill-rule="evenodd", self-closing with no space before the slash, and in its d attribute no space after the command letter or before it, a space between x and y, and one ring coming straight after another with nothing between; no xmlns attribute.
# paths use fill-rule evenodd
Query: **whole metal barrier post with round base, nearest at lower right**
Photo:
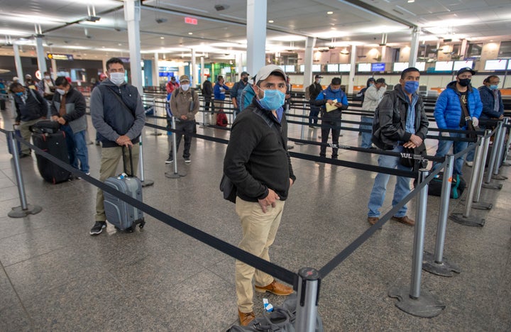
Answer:
<svg viewBox="0 0 511 332"><path fill-rule="evenodd" d="M419 184L429 175L429 170L419 170ZM408 287L392 287L389 297L397 298L397 308L418 317L432 318L445 309L445 304L438 301L431 292L423 289L421 293L422 256L424 250L424 231L426 229L428 186L424 186L417 194L417 211L415 214L414 244L412 258L412 282Z"/></svg>

